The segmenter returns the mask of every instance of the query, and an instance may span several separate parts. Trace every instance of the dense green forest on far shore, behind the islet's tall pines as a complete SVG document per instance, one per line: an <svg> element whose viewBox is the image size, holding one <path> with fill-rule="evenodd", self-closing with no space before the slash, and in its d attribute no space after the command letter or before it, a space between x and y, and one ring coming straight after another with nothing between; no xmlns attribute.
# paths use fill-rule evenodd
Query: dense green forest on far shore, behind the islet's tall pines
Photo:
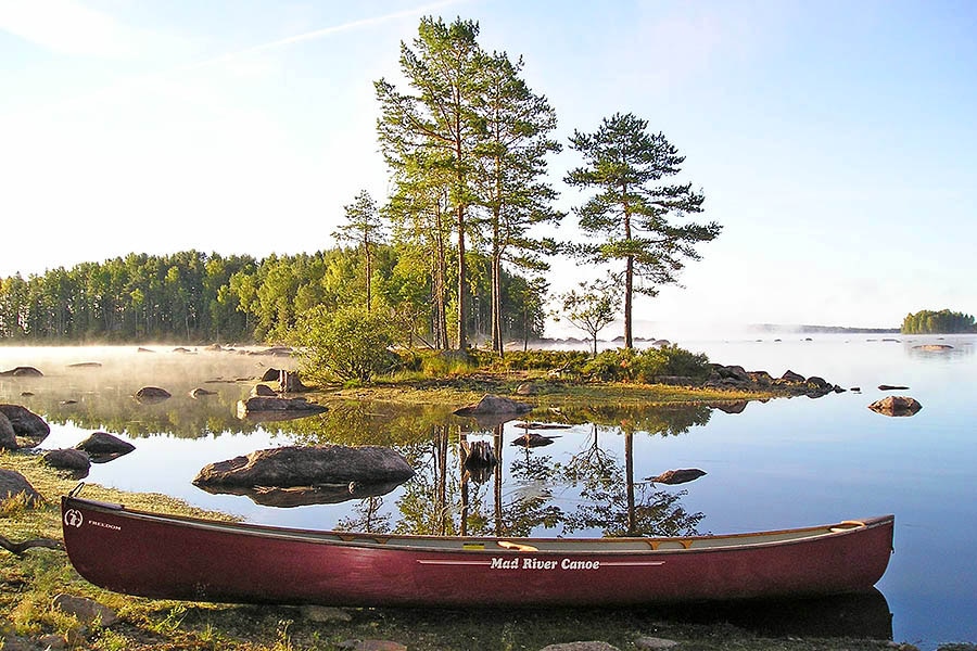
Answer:
<svg viewBox="0 0 977 651"><path fill-rule="evenodd" d="M431 276L407 247L371 250L375 309L385 310L415 343L431 341ZM469 254L473 276L469 327L483 333L490 304L488 263ZM297 316L314 306L338 309L366 301L361 250L224 257L187 251L129 254L103 263L58 268L27 279L0 280L0 341L21 344L147 341L281 342ZM503 319L513 339L542 333L543 299L523 278L504 275ZM529 296L529 299L526 297Z"/></svg>

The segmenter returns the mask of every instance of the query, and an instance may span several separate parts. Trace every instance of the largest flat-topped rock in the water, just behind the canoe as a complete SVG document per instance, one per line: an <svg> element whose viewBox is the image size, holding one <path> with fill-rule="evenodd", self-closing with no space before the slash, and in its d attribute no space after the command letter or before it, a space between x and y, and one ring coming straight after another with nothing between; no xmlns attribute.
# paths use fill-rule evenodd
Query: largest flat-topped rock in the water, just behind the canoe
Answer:
<svg viewBox="0 0 977 651"><path fill-rule="evenodd" d="M414 469L396 450L378 446L286 446L205 465L195 485L314 486L406 482Z"/></svg>

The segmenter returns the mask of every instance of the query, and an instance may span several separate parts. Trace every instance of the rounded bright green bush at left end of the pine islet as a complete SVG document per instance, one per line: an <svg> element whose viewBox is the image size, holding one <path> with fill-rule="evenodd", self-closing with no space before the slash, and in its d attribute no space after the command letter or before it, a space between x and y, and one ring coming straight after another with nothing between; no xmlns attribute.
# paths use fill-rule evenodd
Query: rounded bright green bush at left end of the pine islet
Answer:
<svg viewBox="0 0 977 651"><path fill-rule="evenodd" d="M333 312L323 305L300 315L292 342L300 350L303 375L314 382L369 382L390 371L396 356L389 319L363 307Z"/></svg>

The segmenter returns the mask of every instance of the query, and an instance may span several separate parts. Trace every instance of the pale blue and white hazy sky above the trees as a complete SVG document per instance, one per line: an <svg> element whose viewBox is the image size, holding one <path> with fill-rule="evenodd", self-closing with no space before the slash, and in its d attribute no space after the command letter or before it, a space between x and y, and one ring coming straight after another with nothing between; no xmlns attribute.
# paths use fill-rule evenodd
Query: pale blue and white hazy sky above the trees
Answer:
<svg viewBox="0 0 977 651"><path fill-rule="evenodd" d="M969 0L0 0L0 277L335 245L343 206L388 194L373 82L406 90L424 15L477 21L556 110L547 234L580 237L574 130L631 112L686 157L723 231L637 299L637 336L977 312Z"/></svg>

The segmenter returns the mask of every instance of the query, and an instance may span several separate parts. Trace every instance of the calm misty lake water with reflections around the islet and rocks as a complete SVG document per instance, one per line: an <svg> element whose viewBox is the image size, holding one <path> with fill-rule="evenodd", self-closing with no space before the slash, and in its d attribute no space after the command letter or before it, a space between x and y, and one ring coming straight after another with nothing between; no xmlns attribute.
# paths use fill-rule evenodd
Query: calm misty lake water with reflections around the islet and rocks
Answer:
<svg viewBox="0 0 977 651"><path fill-rule="evenodd" d="M763 336L678 343L712 361L775 376L789 369L861 391L752 401L739 413L710 407L540 410L525 420L570 426L540 430L553 443L528 448L513 445L526 431L518 421L480 425L431 407L344 403L312 419L238 420L234 403L264 369L289 368L291 361L281 357L167 347L140 354L135 347L0 347L0 371L34 366L45 373L0 378L0 401L24 405L48 420L52 432L45 449L73 446L96 430L137 446L93 465L86 482L164 493L287 526L662 535L894 513L896 551L872 605L877 609L880 600L885 614L891 613L887 635L922 649L977 641L977 337ZM932 343L952 348L918 348ZM101 366L68 367L88 361ZM883 392L879 384L909 388ZM131 396L145 385L163 386L174 397L139 405ZM196 386L216 395L193 399L188 393ZM923 409L890 418L866 408L892 394L912 396ZM466 474L462 441L491 446L500 457L499 472ZM211 495L191 483L206 463L294 443L392 445L417 476L380 497L291 508ZM646 481L673 469L706 474L672 486Z"/></svg>

